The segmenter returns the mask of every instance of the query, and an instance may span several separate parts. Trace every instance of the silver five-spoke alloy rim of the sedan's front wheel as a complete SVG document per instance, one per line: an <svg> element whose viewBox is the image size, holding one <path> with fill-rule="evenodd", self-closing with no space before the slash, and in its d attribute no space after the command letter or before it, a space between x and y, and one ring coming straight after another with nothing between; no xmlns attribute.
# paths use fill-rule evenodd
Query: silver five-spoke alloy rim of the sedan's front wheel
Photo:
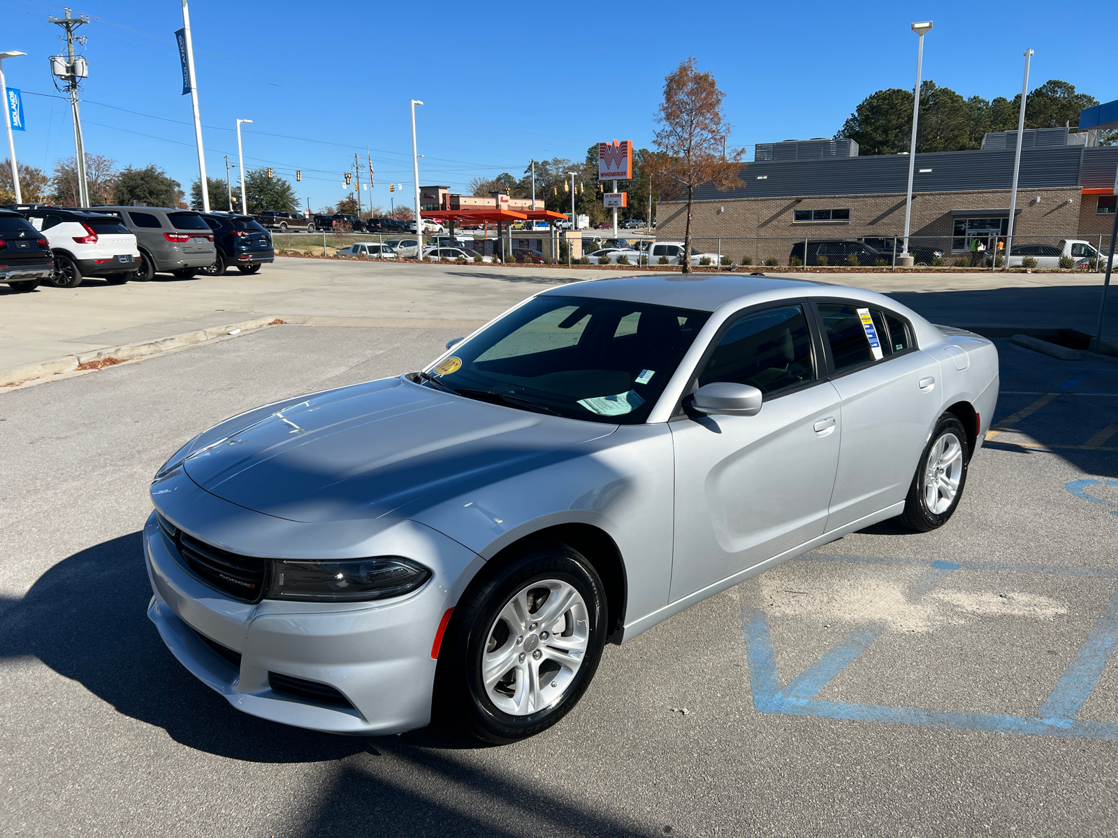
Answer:
<svg viewBox="0 0 1118 838"><path fill-rule="evenodd" d="M546 579L520 590L490 627L482 683L490 701L513 716L559 702L589 646L589 615L568 582Z"/></svg>

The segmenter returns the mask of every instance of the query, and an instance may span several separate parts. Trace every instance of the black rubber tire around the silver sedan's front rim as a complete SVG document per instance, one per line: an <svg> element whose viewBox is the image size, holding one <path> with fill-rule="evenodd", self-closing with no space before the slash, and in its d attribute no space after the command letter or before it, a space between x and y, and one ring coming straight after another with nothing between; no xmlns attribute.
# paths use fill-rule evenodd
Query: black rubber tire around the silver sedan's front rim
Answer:
<svg viewBox="0 0 1118 838"><path fill-rule="evenodd" d="M544 710L513 716L499 710L482 682L482 655L489 630L502 609L533 582L553 579L572 585L586 602L590 620L589 642L574 683L560 699ZM508 743L550 727L581 698L597 672L607 625L604 585L593 565L563 544L538 545L503 566L475 580L459 600L451 626L451 642L439 654L439 687L443 715L457 716L471 731L489 742Z"/></svg>

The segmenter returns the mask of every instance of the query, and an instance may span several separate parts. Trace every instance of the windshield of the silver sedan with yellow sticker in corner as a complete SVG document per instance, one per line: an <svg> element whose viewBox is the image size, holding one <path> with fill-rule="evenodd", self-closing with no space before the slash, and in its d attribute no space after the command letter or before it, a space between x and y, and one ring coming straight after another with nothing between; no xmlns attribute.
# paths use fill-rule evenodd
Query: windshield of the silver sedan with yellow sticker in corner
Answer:
<svg viewBox="0 0 1118 838"><path fill-rule="evenodd" d="M709 316L540 296L455 346L426 371L426 385L522 410L637 425Z"/></svg>

